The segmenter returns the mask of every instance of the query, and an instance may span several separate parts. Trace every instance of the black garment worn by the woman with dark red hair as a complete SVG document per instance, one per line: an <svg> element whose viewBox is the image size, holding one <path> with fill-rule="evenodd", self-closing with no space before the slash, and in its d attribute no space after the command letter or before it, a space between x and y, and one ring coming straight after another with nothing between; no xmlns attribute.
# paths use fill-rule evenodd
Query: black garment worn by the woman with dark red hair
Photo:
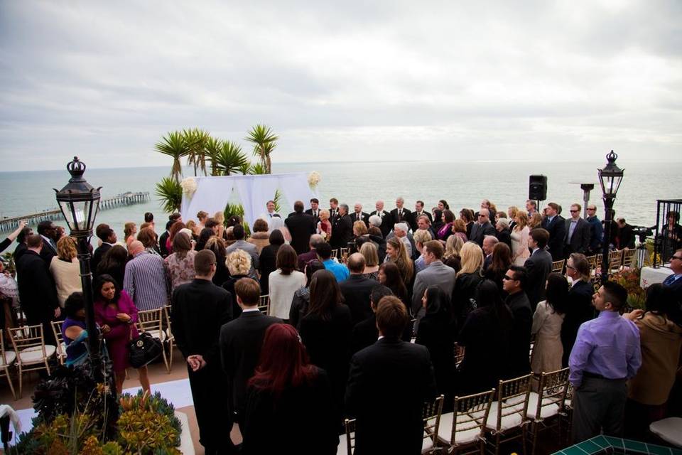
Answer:
<svg viewBox="0 0 682 455"><path fill-rule="evenodd" d="M242 454L333 455L339 444L330 382L324 370L312 382L281 395L249 387Z"/></svg>

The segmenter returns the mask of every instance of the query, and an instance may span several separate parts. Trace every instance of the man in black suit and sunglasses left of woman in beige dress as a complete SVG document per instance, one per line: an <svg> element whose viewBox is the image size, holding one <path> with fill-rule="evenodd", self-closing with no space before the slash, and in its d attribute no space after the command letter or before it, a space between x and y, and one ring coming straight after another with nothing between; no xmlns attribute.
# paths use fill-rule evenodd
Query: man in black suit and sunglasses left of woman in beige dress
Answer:
<svg viewBox="0 0 682 455"><path fill-rule="evenodd" d="M518 378L531 372L529 352L533 311L524 291L527 278L524 267L512 265L502 279L502 289L507 292L504 303L514 316L514 325L509 333L509 364L505 370L505 379Z"/></svg>

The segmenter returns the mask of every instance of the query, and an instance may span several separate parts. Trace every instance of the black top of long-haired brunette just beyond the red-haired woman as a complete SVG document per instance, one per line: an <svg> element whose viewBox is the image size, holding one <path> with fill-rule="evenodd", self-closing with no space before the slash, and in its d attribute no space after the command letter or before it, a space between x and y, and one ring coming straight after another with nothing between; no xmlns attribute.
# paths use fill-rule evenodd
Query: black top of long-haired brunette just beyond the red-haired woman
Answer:
<svg viewBox="0 0 682 455"><path fill-rule="evenodd" d="M301 340L310 355L310 363L329 375L339 417L348 378L350 332L353 328L350 308L339 304L328 320L317 314L306 314L299 323Z"/></svg>

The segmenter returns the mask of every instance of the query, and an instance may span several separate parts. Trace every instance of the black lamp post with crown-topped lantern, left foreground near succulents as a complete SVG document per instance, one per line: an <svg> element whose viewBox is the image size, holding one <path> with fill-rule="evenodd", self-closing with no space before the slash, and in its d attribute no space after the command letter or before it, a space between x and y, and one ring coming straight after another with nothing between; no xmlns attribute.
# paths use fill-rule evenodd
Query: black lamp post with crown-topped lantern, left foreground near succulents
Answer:
<svg viewBox="0 0 682 455"><path fill-rule="evenodd" d="M90 343L90 365L97 382L103 382L102 360L99 358L99 337L97 326L94 322L94 307L92 296L92 273L90 272L90 237L94 218L99 211L99 189L93 188L85 181L85 163L78 161L74 156L73 161L66 165L71 174L69 183L57 193L57 202L62 210L64 219L71 230L71 236L75 237L78 246L78 262L80 262L80 280L83 287L83 299L85 300L85 326Z"/></svg>

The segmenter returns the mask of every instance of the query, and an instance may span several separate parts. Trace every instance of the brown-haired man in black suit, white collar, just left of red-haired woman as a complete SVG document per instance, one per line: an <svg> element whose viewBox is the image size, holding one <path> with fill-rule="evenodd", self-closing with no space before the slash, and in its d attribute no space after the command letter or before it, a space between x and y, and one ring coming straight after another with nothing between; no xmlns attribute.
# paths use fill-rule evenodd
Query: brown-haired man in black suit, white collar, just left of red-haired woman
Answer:
<svg viewBox="0 0 682 455"><path fill-rule="evenodd" d="M239 279L234 284L237 304L242 314L229 321L220 329L220 358L227 375L232 407L237 413L237 423L243 424L244 407L247 398L247 382L254 375L261 355L261 346L266 329L281 322L272 316L265 316L258 310L261 288L256 280ZM229 432L229 427L224 427Z"/></svg>

